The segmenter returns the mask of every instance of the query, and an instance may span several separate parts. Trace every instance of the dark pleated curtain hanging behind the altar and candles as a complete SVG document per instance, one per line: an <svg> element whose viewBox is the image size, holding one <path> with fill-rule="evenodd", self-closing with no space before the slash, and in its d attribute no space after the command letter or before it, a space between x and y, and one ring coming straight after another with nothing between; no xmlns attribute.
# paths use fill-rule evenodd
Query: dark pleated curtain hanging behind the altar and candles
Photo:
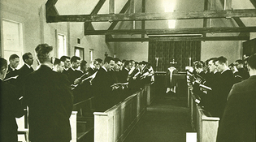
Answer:
<svg viewBox="0 0 256 142"><path fill-rule="evenodd" d="M155 71L167 71L170 62L176 63L178 71L201 58L201 41L149 41L149 62Z"/></svg>

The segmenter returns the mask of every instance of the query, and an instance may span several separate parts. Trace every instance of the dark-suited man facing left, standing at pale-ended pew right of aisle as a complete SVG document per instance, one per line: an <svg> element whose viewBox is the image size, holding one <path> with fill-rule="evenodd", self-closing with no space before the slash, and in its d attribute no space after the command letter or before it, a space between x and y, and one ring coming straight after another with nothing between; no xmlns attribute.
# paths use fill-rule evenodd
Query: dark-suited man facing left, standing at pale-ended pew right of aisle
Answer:
<svg viewBox="0 0 256 142"><path fill-rule="evenodd" d="M215 60L217 70L220 72L219 80L211 95L212 110L210 113L213 116L222 118L223 110L227 102L228 93L232 85L235 83L235 77L232 71L228 68L228 59L223 56Z"/></svg>

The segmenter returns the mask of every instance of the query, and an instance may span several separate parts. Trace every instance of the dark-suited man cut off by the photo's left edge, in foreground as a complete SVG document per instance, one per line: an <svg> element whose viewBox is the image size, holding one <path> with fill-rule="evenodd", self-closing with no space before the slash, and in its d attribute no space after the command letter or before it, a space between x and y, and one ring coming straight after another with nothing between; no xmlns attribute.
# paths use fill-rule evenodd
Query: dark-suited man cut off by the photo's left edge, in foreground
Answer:
<svg viewBox="0 0 256 142"><path fill-rule="evenodd" d="M0 141L17 142L16 118L24 115L15 86L2 80L7 75L7 60L0 58Z"/></svg>

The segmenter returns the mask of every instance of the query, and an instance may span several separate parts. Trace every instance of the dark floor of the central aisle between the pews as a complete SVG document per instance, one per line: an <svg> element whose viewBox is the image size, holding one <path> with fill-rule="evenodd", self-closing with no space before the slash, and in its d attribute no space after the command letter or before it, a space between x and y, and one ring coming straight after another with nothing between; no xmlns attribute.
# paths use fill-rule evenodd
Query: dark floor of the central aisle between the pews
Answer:
<svg viewBox="0 0 256 142"><path fill-rule="evenodd" d="M171 95L156 97L124 142L185 142L192 131L186 105Z"/></svg>

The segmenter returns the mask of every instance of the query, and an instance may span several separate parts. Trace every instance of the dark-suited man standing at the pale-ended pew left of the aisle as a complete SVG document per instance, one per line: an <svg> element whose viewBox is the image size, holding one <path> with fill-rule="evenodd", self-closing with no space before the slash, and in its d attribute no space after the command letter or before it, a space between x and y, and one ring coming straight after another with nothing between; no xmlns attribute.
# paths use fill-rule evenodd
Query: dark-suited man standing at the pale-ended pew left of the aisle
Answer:
<svg viewBox="0 0 256 142"><path fill-rule="evenodd" d="M98 70L93 79L93 94L95 100L95 111L104 112L113 105L111 100L111 85L114 84L110 71L115 65L114 59L106 57L103 66Z"/></svg>

